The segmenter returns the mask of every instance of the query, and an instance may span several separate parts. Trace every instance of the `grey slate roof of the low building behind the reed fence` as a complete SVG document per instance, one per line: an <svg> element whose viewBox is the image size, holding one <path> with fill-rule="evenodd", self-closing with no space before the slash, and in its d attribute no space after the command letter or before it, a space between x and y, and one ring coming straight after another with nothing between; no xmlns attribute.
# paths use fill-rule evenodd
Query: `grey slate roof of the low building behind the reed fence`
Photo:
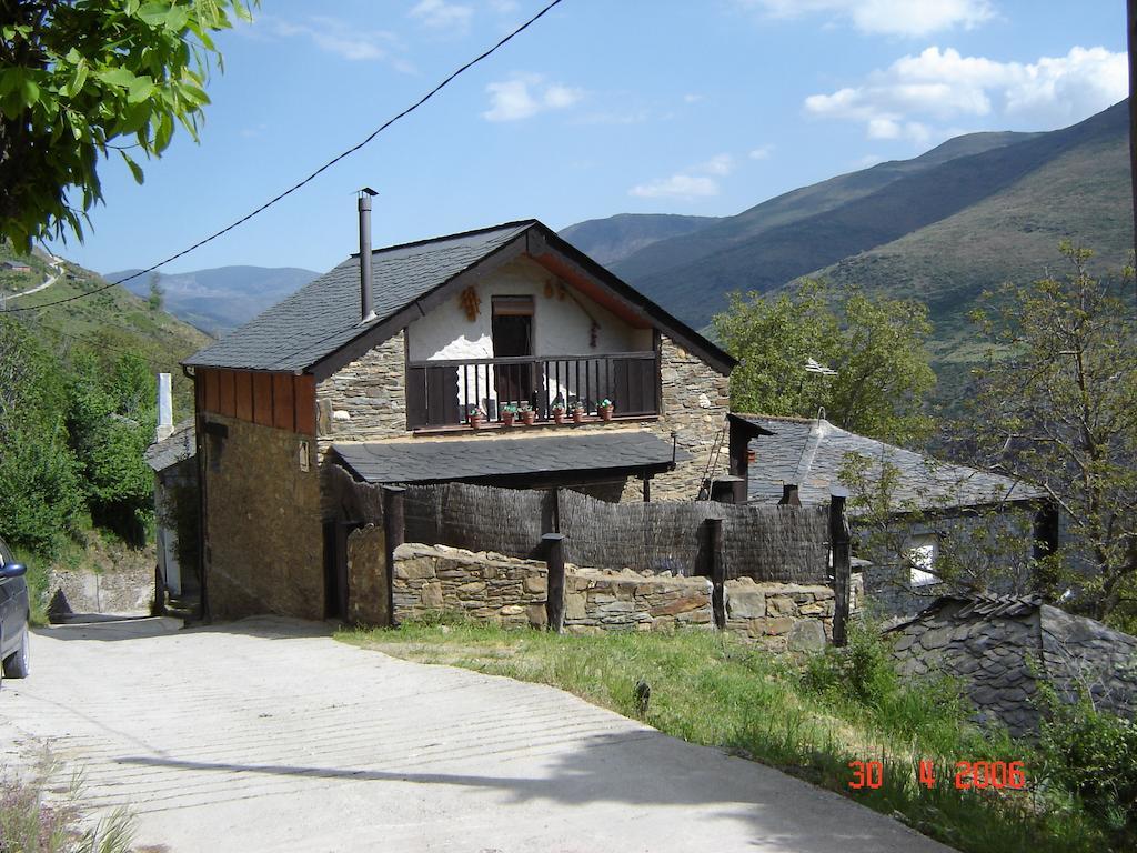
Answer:
<svg viewBox="0 0 1137 853"><path fill-rule="evenodd" d="M870 472L879 475L882 463L899 470L895 489L897 511L978 506L1006 500L1028 500L1044 494L1026 483L964 465L939 462L923 454L848 432L824 419L804 420L765 415L735 415L773 433L750 442L755 461L749 465L749 499L777 503L782 485L798 487L803 504L829 500L839 486L845 455L870 457Z"/></svg>

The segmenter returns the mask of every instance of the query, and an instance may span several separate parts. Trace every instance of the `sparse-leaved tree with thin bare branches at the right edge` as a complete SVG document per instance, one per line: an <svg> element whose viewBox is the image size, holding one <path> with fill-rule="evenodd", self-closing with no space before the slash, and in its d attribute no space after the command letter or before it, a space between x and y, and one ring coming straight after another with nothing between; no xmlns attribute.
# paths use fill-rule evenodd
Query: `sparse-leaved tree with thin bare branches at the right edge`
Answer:
<svg viewBox="0 0 1137 853"><path fill-rule="evenodd" d="M968 434L982 462L1057 502L1068 566L1097 619L1137 618L1137 318L1121 284L1070 272L986 295L973 318L990 348ZM1131 274L1131 271L1130 271Z"/></svg>

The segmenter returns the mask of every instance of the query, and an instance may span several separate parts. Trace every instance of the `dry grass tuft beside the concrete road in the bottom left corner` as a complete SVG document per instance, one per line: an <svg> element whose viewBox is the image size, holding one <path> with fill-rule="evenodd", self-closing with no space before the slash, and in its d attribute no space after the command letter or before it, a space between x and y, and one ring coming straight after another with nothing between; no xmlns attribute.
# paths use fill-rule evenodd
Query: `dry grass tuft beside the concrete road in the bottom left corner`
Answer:
<svg viewBox="0 0 1137 853"><path fill-rule="evenodd" d="M64 789L50 779L58 767L49 754L26 773L6 770L0 782L0 851L3 853L130 853L133 829L125 810L115 810L93 826L78 806L81 784ZM49 797L51 790L61 796ZM160 848L144 848L157 853ZM142 850L136 851L142 853Z"/></svg>

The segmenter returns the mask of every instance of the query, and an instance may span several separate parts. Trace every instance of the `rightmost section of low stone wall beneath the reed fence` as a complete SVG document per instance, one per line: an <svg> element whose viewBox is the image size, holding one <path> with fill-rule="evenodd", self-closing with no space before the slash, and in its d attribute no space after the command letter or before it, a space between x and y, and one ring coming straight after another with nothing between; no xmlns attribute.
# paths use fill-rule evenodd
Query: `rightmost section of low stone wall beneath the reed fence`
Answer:
<svg viewBox="0 0 1137 853"><path fill-rule="evenodd" d="M833 638L836 597L831 587L728 580L727 630L774 651L819 652ZM864 601L860 574L849 583L849 614Z"/></svg>

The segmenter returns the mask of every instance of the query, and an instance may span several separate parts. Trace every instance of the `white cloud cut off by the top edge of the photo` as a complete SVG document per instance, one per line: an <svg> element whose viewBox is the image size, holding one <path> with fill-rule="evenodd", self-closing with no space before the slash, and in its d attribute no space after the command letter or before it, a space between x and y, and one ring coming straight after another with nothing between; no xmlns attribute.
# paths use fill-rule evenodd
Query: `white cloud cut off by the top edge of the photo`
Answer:
<svg viewBox="0 0 1137 853"><path fill-rule="evenodd" d="M777 18L824 14L865 33L920 36L995 17L990 0L737 0Z"/></svg>

